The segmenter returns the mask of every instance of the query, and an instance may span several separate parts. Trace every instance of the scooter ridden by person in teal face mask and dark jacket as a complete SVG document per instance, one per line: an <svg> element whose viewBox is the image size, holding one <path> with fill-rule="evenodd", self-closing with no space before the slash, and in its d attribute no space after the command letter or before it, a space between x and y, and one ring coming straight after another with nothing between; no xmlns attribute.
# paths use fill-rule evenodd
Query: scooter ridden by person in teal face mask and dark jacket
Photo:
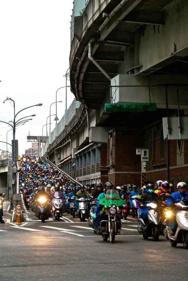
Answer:
<svg viewBox="0 0 188 281"><path fill-rule="evenodd" d="M161 227L160 211L157 209L156 203L148 203L144 205L148 207L148 218L140 218L140 224L138 226L138 232L143 235L143 239L147 240L148 237L152 237L154 241L158 241ZM143 207L142 207L143 208Z"/></svg>

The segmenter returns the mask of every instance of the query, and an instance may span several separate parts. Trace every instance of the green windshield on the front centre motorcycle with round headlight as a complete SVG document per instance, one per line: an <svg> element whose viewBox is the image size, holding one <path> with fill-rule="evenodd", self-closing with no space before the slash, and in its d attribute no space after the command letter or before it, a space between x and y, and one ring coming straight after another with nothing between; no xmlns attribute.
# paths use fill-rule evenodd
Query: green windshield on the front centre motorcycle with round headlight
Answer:
<svg viewBox="0 0 188 281"><path fill-rule="evenodd" d="M119 197L118 191L114 189L107 190L104 198L99 200L99 204L105 206L110 206L110 205L122 206L124 205L124 203L125 203L124 200L122 200Z"/></svg>

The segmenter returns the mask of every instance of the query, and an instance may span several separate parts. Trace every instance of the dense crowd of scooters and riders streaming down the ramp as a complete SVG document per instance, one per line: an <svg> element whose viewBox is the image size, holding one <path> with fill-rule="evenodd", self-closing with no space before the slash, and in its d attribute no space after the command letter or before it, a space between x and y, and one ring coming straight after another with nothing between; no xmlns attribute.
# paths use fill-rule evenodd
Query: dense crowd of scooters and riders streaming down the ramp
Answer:
<svg viewBox="0 0 188 281"><path fill-rule="evenodd" d="M70 213L73 218L78 217L82 222L87 219L88 225L95 233L102 235L104 241L109 238L113 243L115 235L120 234L121 220L126 220L129 215L137 218L138 231L144 239L152 237L154 241L158 241L160 235L165 235L173 247L177 243L183 243L184 248L188 249L188 201L181 200L173 206L167 206L164 199L170 198L172 191L165 195L166 198L163 197L161 204L152 201L145 202L142 206L138 204L139 198L147 191L147 186L143 187L141 192L136 190L136 186L130 186L127 192L126 186L115 188L112 184L109 188L104 186L101 191L104 192L103 197L95 198L92 195L94 188L78 186L55 168L49 168L40 158L27 156L20 160L19 183L25 207L31 208L42 222L50 216L60 220L65 212ZM80 188L85 188L89 196L76 199L76 208L75 196ZM60 196L59 191L63 196ZM100 206L102 207L99 215L102 214L102 219L96 226L96 213ZM147 207L146 218L141 218L142 207ZM175 217L176 221L175 233L170 233L167 226L172 217Z"/></svg>

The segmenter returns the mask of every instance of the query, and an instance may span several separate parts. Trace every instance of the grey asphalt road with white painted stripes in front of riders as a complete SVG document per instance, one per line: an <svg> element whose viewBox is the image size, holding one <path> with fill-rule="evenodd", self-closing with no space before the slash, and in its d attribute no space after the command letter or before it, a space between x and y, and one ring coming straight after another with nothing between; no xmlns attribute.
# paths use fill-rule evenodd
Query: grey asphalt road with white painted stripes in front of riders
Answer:
<svg viewBox="0 0 188 281"><path fill-rule="evenodd" d="M123 221L111 244L67 213L59 222L42 223L30 210L24 217L21 226L8 215L0 224L0 280L188 280L188 250L164 236L144 240L135 218Z"/></svg>

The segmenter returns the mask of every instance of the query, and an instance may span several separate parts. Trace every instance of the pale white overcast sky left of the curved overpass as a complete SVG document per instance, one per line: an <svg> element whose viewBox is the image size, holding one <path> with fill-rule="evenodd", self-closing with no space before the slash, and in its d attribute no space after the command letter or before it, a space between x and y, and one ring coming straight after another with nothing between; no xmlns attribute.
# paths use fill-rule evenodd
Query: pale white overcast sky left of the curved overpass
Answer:
<svg viewBox="0 0 188 281"><path fill-rule="evenodd" d="M50 115L50 105L56 101L56 91L66 85L63 75L69 68L70 21L73 0L0 0L0 120L9 122L14 118L14 108L8 96L15 101L15 112L38 103L19 113L16 120L36 114L25 125L16 129L19 155L31 147L27 135L42 135L42 127ZM68 71L69 72L69 71ZM67 85L69 80L67 80ZM67 88L67 108L74 98ZM57 116L64 115L65 88L58 90ZM13 104L12 104L13 105ZM56 113L56 104L51 114ZM55 116L51 116L51 132L55 128ZM48 122L49 123L49 118ZM6 127L6 128L4 128ZM0 141L6 142L10 130L0 122ZM49 133L49 125L47 128ZM43 128L46 135L46 126ZM12 132L8 132L11 143ZM8 148L10 145L8 145ZM6 144L0 142L0 149ZM10 151L10 149L9 149Z"/></svg>

